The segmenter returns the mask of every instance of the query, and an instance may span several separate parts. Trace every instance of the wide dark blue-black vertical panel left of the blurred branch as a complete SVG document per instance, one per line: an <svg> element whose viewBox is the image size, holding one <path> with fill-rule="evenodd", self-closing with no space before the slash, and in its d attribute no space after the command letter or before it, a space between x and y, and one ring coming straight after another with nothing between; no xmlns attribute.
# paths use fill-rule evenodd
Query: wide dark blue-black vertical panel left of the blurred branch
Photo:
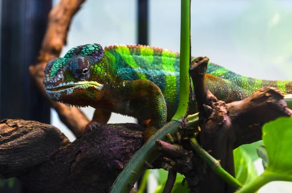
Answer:
<svg viewBox="0 0 292 193"><path fill-rule="evenodd" d="M50 106L31 82L52 0L2 0L0 120L50 123Z"/></svg>

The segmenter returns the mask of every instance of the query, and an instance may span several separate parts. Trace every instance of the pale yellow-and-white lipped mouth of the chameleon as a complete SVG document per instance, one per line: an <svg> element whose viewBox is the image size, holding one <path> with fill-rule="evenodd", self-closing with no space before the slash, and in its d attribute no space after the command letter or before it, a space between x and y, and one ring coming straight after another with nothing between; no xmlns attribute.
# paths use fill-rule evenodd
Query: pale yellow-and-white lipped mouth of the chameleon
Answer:
<svg viewBox="0 0 292 193"><path fill-rule="evenodd" d="M46 85L45 89L47 92L60 92L60 91L73 91L74 88L88 88L88 87L94 87L96 89L102 89L103 84L99 84L94 81L80 81L77 83L69 82L69 83L60 83L58 86L53 85Z"/></svg>

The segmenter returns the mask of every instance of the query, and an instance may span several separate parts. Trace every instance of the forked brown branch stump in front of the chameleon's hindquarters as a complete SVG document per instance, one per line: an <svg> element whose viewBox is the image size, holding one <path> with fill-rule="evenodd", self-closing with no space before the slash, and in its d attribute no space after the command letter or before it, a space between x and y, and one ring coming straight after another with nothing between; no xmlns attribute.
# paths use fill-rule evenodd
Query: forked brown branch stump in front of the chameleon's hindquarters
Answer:
<svg viewBox="0 0 292 193"><path fill-rule="evenodd" d="M276 88L261 88L249 98L225 104L207 88L205 71L209 59L198 57L190 65L190 75L199 109L201 132L198 140L221 166L235 176L233 149L241 144L261 139L261 126L277 117L291 116L292 110L284 102L284 95ZM204 193L234 192L211 168L197 163L200 191ZM186 178L187 181L191 179Z"/></svg>

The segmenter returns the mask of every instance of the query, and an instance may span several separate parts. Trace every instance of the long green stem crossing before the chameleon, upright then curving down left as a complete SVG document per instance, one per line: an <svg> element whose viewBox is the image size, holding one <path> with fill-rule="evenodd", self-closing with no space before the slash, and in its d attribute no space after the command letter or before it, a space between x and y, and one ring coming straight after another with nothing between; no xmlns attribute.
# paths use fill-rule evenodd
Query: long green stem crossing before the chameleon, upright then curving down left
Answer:
<svg viewBox="0 0 292 193"><path fill-rule="evenodd" d="M183 118L187 113L189 102L189 64L190 64L190 0L181 0L181 55L180 55L180 97L179 106L172 120L159 129L156 134L139 149L129 160L124 170L115 179L110 193L128 193L129 189L145 172L145 161L152 163L159 155L154 150L156 140L166 140L165 134L175 136L179 126L184 126ZM198 125L198 117L194 117L194 125Z"/></svg>

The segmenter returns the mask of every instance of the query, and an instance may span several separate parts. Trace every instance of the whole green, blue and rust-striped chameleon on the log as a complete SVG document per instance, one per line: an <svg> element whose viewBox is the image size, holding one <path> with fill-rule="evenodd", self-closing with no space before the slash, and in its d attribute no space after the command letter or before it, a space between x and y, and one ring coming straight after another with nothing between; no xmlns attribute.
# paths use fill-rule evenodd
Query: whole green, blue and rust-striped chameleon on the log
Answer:
<svg viewBox="0 0 292 193"><path fill-rule="evenodd" d="M54 101L94 107L93 121L98 123L107 123L111 112L150 119L147 140L176 112L179 69L180 54L176 52L142 45L103 49L99 44L87 44L50 61L43 84ZM247 98L265 86L292 93L292 81L249 78L210 62L206 73L209 90L226 103ZM191 99L188 114L195 112L196 101Z"/></svg>

